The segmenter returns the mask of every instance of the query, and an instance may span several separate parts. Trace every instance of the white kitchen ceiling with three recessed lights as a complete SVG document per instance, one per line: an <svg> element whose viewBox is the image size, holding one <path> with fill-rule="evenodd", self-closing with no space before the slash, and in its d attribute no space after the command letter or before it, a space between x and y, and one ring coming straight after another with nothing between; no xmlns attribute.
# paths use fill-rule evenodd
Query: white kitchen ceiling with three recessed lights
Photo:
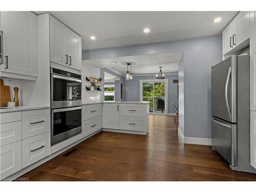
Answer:
<svg viewBox="0 0 256 192"><path fill-rule="evenodd" d="M34 11L35 14L46 13ZM82 36L82 49L98 49L221 34L237 11L50 11ZM220 23L213 19L221 17ZM144 28L150 28L148 34ZM91 40L90 36L96 36Z"/></svg>

